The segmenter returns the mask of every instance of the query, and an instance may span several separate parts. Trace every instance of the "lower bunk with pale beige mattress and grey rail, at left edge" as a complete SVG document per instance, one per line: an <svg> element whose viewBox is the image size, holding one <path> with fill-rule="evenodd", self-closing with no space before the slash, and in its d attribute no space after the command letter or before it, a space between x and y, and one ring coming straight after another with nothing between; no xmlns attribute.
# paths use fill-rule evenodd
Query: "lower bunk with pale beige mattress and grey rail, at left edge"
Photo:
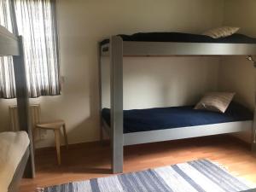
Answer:
<svg viewBox="0 0 256 192"><path fill-rule="evenodd" d="M18 191L29 153L25 131L0 133L0 191Z"/></svg>

